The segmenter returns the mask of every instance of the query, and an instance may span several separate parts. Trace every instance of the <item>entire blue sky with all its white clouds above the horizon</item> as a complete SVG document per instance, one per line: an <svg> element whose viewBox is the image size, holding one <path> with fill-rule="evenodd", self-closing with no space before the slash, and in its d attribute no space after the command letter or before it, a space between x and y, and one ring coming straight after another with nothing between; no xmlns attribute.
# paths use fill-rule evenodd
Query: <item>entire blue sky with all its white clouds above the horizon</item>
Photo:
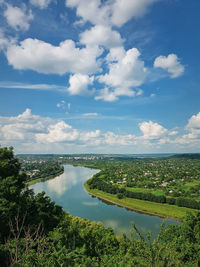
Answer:
<svg viewBox="0 0 200 267"><path fill-rule="evenodd" d="M0 145L200 152L199 0L0 0Z"/></svg>

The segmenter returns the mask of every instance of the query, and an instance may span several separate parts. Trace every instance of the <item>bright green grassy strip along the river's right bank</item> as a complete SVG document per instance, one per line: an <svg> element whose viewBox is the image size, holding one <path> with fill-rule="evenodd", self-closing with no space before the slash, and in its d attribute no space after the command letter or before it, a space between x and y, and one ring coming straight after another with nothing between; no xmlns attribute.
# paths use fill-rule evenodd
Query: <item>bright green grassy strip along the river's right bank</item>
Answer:
<svg viewBox="0 0 200 267"><path fill-rule="evenodd" d="M197 213L197 210L178 207L175 205L160 204L133 198L118 199L116 195L105 193L97 189L89 189L87 183L85 183L84 186L90 194L113 204L164 218L171 218L182 222L188 212Z"/></svg>

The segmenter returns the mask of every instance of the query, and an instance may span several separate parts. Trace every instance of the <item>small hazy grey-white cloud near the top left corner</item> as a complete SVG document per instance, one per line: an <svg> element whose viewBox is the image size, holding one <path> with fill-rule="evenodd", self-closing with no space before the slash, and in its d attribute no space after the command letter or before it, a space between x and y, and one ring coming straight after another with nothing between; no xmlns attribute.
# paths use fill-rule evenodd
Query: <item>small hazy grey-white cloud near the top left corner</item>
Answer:
<svg viewBox="0 0 200 267"><path fill-rule="evenodd" d="M17 31L27 31L30 26L30 21L33 20L32 11L27 11L25 5L23 5L22 8L19 8L7 4L4 16L8 24Z"/></svg>

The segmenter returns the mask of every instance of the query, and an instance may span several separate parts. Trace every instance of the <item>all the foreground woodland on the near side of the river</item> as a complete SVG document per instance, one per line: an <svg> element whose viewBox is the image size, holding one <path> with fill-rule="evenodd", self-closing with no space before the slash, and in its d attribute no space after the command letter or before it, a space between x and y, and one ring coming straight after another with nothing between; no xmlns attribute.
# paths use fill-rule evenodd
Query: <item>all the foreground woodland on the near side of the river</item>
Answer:
<svg viewBox="0 0 200 267"><path fill-rule="evenodd" d="M1 266L199 266L200 213L138 238L72 217L45 193L34 195L12 148L0 148ZM112 178L114 179L114 178ZM181 178L182 179L182 178Z"/></svg>

